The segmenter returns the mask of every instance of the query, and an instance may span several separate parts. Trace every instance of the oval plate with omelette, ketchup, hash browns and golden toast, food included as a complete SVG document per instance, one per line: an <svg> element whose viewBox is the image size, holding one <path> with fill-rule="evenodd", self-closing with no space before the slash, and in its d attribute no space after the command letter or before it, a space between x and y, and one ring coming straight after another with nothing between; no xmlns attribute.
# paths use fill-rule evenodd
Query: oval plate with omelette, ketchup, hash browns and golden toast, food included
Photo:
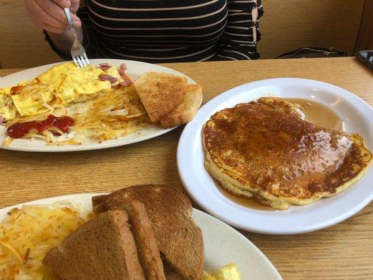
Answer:
<svg viewBox="0 0 373 280"><path fill-rule="evenodd" d="M92 59L62 62L0 79L0 148L62 152L110 148L188 123L202 87L163 66Z"/></svg>

